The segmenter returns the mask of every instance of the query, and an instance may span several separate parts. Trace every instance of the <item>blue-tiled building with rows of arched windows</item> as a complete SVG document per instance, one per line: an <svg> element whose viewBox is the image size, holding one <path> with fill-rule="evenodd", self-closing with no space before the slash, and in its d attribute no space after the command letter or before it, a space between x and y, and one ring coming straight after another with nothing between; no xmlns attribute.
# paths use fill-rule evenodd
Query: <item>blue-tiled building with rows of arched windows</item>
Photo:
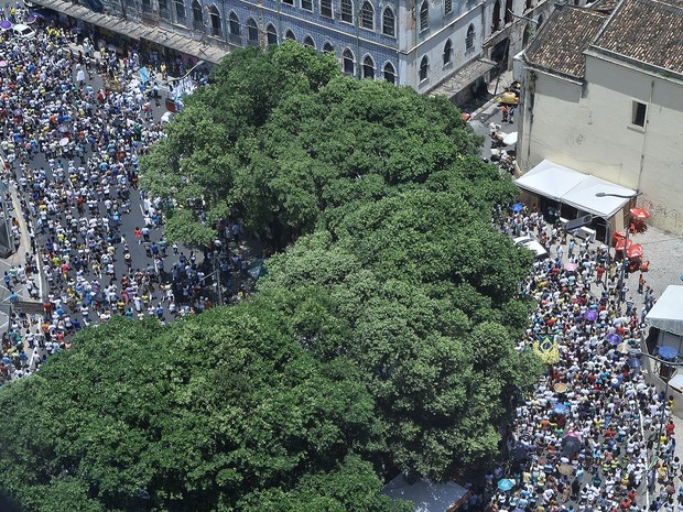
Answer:
<svg viewBox="0 0 683 512"><path fill-rule="evenodd" d="M86 18L69 1L36 3ZM509 67L551 8L550 0L105 0L102 6L102 18L137 21L226 52L294 40L333 53L348 75L420 92L438 87L451 96ZM116 23L109 24L116 31ZM196 46L188 44L187 53L197 53Z"/></svg>

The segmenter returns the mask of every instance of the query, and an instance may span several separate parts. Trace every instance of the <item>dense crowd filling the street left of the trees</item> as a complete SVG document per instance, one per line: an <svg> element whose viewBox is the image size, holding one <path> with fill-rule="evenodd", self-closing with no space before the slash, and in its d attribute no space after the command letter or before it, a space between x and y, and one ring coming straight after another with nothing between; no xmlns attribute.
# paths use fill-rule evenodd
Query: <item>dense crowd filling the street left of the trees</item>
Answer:
<svg viewBox="0 0 683 512"><path fill-rule="evenodd" d="M95 51L88 37L76 45L68 31L33 26L34 37L0 33L2 178L19 193L14 236L21 215L31 246L23 264L6 272L3 298L15 302L22 287L44 302L44 314L11 315L0 380L30 374L68 349L74 333L115 315L164 322L202 312L212 306L216 273L232 298L247 291L239 220L227 222L225 243L186 254L163 237L160 199L139 189L139 157L165 135L158 84L137 79L137 54L120 58ZM11 208L9 193L4 200Z"/></svg>

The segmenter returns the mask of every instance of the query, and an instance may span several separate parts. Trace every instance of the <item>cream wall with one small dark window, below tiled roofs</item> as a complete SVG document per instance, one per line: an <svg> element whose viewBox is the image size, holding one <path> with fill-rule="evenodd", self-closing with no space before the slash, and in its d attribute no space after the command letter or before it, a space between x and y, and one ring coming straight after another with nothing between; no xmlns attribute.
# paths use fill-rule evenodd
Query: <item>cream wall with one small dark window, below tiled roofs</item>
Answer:
<svg viewBox="0 0 683 512"><path fill-rule="evenodd" d="M650 222L683 233L683 84L587 55L582 86L524 72L520 161L543 159L638 189ZM529 105L533 94L533 116ZM648 105L644 129L632 101Z"/></svg>

